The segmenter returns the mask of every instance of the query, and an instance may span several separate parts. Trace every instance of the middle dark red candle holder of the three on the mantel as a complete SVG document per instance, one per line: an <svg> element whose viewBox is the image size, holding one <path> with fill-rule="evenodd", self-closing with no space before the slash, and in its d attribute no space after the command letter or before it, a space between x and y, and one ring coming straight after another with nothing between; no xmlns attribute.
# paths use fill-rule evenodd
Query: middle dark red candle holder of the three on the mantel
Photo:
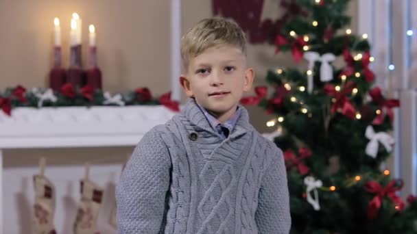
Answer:
<svg viewBox="0 0 417 234"><path fill-rule="evenodd" d="M71 83L74 87L84 86L84 71L82 70L81 44L71 47L71 62L67 70L67 83Z"/></svg>

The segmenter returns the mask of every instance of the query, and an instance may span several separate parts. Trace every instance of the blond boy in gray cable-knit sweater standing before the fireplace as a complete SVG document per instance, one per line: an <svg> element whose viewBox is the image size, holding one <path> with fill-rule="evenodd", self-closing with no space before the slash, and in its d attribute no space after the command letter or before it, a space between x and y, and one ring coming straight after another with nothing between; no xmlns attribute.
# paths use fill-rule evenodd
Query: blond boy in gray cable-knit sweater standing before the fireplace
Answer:
<svg viewBox="0 0 417 234"><path fill-rule="evenodd" d="M208 18L182 37L182 113L136 146L117 185L119 233L289 233L283 153L238 105L254 71L233 21Z"/></svg>

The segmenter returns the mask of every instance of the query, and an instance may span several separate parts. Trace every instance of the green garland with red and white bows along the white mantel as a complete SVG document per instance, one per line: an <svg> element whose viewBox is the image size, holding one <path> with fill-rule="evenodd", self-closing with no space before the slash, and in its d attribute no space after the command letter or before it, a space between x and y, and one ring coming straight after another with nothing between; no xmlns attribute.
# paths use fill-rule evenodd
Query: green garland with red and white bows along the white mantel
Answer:
<svg viewBox="0 0 417 234"><path fill-rule="evenodd" d="M60 90L32 88L23 86L6 88L0 91L0 109L8 116L15 107L70 107L70 106L124 106L124 105L165 105L174 112L179 111L179 103L171 100L171 92L158 98L152 96L149 88L142 87L128 92L110 94L94 90L92 86L75 88L71 83L64 84Z"/></svg>

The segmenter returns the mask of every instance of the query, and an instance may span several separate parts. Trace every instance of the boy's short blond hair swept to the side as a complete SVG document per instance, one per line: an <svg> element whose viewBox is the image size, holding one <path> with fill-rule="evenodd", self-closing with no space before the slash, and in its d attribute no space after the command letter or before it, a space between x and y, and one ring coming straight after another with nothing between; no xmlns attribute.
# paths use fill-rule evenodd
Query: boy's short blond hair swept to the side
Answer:
<svg viewBox="0 0 417 234"><path fill-rule="evenodd" d="M181 38L182 67L188 70L189 60L200 55L204 50L231 45L246 55L246 36L241 27L231 19L213 17L205 18L191 27Z"/></svg>

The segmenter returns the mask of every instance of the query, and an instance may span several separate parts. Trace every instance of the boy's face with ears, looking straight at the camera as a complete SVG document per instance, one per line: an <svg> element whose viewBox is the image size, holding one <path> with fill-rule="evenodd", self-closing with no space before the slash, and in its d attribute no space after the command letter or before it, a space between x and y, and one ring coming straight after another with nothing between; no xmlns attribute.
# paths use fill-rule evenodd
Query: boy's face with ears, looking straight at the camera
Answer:
<svg viewBox="0 0 417 234"><path fill-rule="evenodd" d="M246 68L246 57L240 49L219 46L206 49L189 61L180 83L189 97L217 118L231 116L243 91L252 87L254 72Z"/></svg>

